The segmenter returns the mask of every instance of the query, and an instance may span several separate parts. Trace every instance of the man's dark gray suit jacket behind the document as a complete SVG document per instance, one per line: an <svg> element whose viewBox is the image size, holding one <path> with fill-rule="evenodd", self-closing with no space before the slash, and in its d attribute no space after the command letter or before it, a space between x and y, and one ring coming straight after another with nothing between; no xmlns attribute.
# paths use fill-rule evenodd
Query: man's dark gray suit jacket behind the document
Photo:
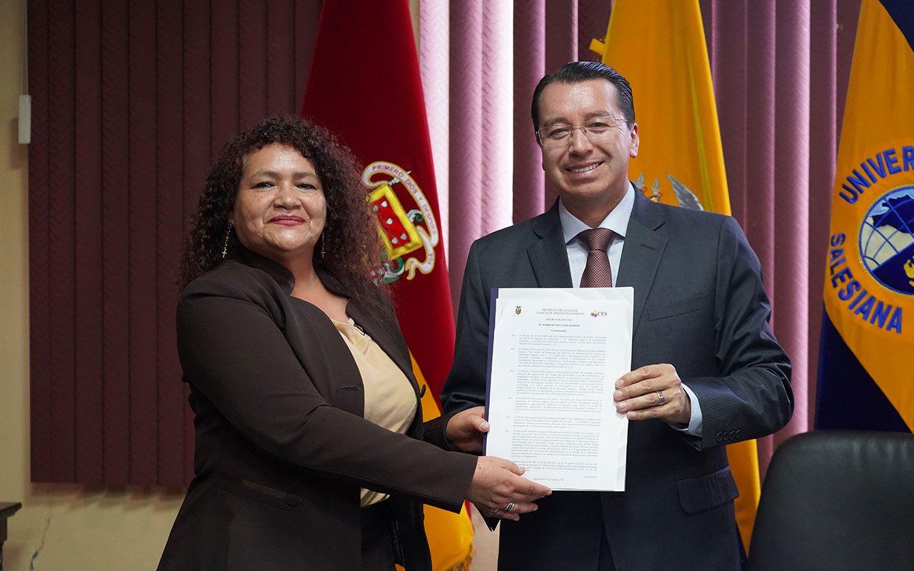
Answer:
<svg viewBox="0 0 914 571"><path fill-rule="evenodd" d="M635 192L615 284L634 288L632 370L674 365L700 403L702 436L632 421L625 492L556 492L503 522L499 569L595 569L601 522L620 571L739 569L739 493L724 445L771 434L793 407L759 259L733 218ZM473 243L446 413L484 404L490 291L571 285L558 202Z"/></svg>

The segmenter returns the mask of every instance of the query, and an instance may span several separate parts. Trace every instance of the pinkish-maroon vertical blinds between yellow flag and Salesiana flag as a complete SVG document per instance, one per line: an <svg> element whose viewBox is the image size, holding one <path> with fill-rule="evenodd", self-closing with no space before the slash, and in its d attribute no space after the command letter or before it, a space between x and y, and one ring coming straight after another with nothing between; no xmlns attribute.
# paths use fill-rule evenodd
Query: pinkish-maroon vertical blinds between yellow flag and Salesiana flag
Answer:
<svg viewBox="0 0 914 571"><path fill-rule="evenodd" d="M701 0L733 216L765 271L793 362L793 418L812 428L834 161L859 0Z"/></svg>

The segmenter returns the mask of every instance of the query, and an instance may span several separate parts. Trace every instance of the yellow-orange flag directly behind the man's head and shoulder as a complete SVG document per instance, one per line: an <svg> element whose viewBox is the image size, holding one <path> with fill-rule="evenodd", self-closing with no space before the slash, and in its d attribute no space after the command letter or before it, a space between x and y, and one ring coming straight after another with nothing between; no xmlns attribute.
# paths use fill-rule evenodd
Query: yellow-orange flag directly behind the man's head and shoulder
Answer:
<svg viewBox="0 0 914 571"><path fill-rule="evenodd" d="M636 46L633 49L632 46ZM632 84L641 139L629 179L655 202L730 214L717 105L698 0L616 0L590 48ZM755 440L727 447L749 547L761 481Z"/></svg>

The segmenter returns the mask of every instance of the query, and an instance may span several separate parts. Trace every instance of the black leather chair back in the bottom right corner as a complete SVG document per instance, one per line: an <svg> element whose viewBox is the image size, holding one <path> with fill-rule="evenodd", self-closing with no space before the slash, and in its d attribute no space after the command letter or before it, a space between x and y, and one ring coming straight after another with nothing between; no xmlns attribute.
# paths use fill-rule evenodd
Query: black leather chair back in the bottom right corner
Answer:
<svg viewBox="0 0 914 571"><path fill-rule="evenodd" d="M784 441L761 489L749 571L914 569L914 435Z"/></svg>

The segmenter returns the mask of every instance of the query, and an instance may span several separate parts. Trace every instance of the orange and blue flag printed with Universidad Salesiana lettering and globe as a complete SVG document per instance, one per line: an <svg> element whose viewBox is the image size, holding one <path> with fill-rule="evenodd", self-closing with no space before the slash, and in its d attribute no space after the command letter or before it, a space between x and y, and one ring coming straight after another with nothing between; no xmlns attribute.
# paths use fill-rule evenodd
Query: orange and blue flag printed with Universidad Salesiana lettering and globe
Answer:
<svg viewBox="0 0 914 571"><path fill-rule="evenodd" d="M825 259L815 428L914 429L914 5L863 0Z"/></svg>

